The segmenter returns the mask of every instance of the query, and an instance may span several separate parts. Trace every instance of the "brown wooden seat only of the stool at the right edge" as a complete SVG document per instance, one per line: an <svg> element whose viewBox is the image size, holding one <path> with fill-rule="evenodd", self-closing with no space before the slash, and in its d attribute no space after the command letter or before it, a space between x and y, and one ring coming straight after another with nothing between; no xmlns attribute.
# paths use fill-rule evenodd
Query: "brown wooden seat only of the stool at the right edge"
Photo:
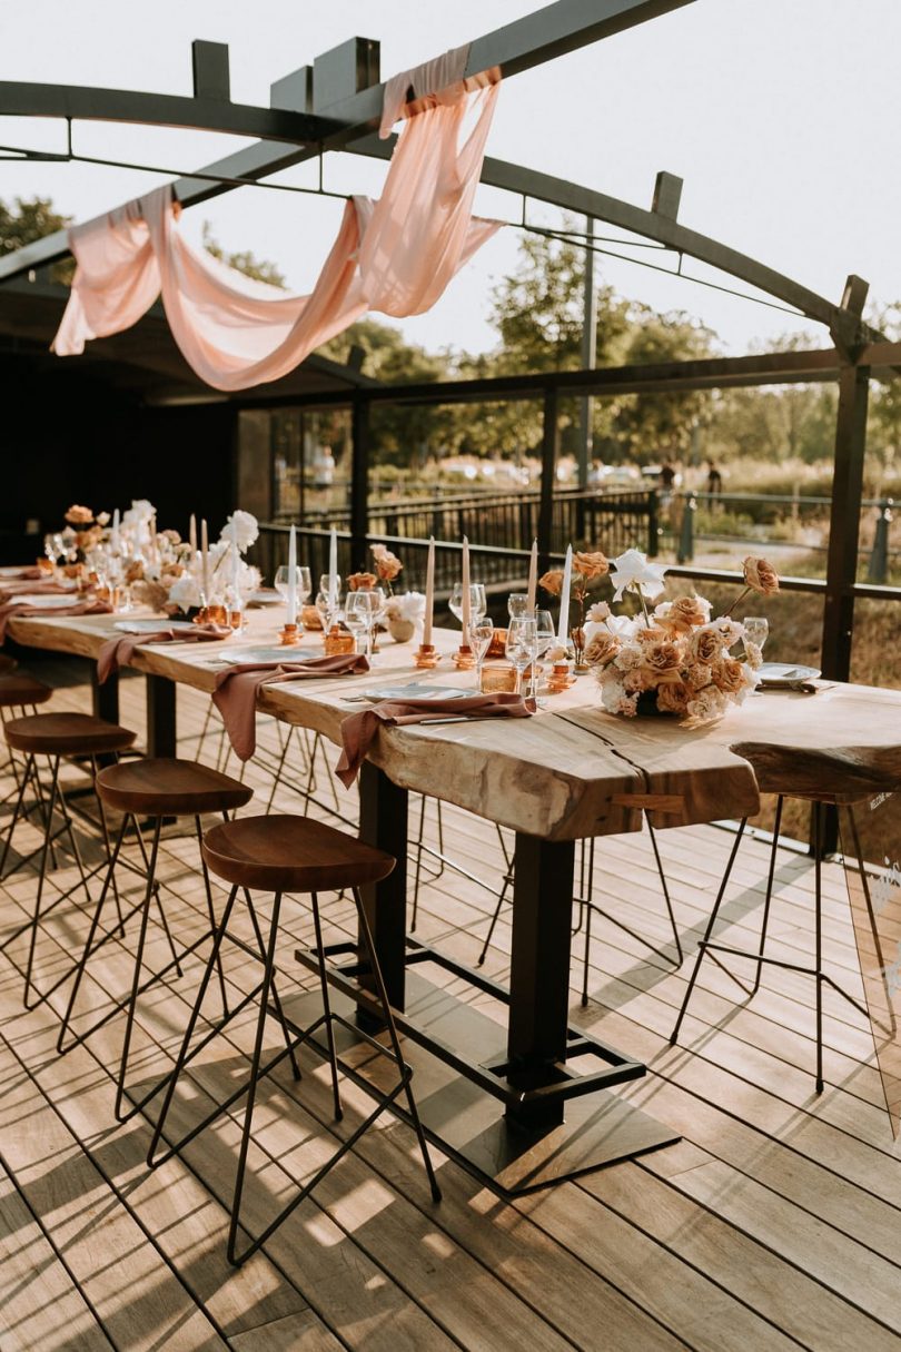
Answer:
<svg viewBox="0 0 901 1352"><path fill-rule="evenodd" d="M901 790L901 746L773 746L735 742L751 763L762 794L812 803L859 803Z"/></svg>

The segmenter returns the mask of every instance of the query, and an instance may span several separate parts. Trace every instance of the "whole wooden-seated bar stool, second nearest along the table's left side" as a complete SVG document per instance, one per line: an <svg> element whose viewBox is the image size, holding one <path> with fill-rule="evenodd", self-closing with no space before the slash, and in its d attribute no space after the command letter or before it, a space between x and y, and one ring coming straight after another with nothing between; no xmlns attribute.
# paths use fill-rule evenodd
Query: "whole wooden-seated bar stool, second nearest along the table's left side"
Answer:
<svg viewBox="0 0 901 1352"><path fill-rule="evenodd" d="M166 976L173 968L178 976L181 976L181 960L189 953L193 953L201 944L205 944L216 933L216 911L213 907L212 888L209 886L209 872L207 869L207 863L203 856L203 849L200 853L200 867L204 880L204 890L207 894L207 910L209 915L209 929L195 940L180 953L176 953L176 945L172 938L169 923L166 921L166 913L162 906L162 899L159 896L159 887L157 883L157 863L159 857L159 836L162 830L162 823L165 819L173 817L190 817L193 818L195 833L197 837L199 846L203 842L203 830L200 818L205 813L222 814L226 821L228 819L228 813L238 807L243 807L253 798L253 788L247 784L239 783L236 779L231 779L228 775L222 775L219 771L212 769L209 765L201 765L197 761L188 760L174 760L168 757L143 757L142 760L123 761L118 765L108 765L101 769L96 779L97 798L100 799L104 808L108 811L122 813L122 823L116 834L116 842L109 857L109 867L107 869L107 876L97 900L97 906L91 921L91 929L85 940L85 946L76 967L76 976L72 984L72 991L69 994L69 1003L66 1013L62 1018L62 1026L59 1029L59 1037L57 1040L57 1049L59 1052L70 1051L80 1042L84 1042L86 1037L95 1033L104 1023L109 1022L120 1010L127 1010L126 1015L126 1029L123 1034L122 1044L122 1059L119 1063L119 1075L116 1079L116 1103L115 1114L119 1121L124 1121L131 1117L138 1109L153 1098L158 1091L159 1086L154 1086L147 1091L138 1103L132 1103L127 1113L122 1111L123 1099L126 1096L126 1073L128 1068L128 1053L131 1049L131 1034L134 1030L135 1010L138 1006L138 999L147 991L151 986ZM153 837L150 845L150 857L147 857L143 834L140 827L140 819L153 821ZM145 863L145 877L146 886L143 898L124 915L119 917L119 925L112 930L101 930L101 915L107 896L109 895L115 871L119 865L122 849L126 841L126 836L130 829L134 829L136 838L140 844L140 852L143 854ZM172 961L169 961L161 971L154 972L143 984L140 982L143 971L143 956L147 940L147 926L150 923L150 907L151 902L155 899L157 909L159 911L159 919L162 929L166 934L169 948L172 952ZM81 986L81 979L88 967L91 957L103 945L111 940L119 930L124 934L124 925L140 911L140 930L138 936L138 948L135 950L134 975L131 982L130 994L119 1000L111 1010L108 1010L103 1018L93 1023L91 1029L80 1033L69 1046L65 1045L66 1034L69 1032L69 1023L73 1017L76 1007L76 1000L78 996L78 988ZM100 937L97 937L100 934ZM222 969L222 963L219 963L219 984L222 991L223 1010L228 1010L228 1002L226 995L226 977Z"/></svg>

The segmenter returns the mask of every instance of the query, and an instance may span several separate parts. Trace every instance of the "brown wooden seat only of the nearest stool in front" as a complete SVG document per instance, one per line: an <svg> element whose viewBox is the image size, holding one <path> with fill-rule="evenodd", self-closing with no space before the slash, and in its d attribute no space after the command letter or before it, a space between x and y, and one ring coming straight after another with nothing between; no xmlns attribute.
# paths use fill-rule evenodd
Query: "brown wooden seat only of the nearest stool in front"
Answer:
<svg viewBox="0 0 901 1352"><path fill-rule="evenodd" d="M204 836L211 872L267 892L331 892L378 883L394 859L308 817L243 817Z"/></svg>

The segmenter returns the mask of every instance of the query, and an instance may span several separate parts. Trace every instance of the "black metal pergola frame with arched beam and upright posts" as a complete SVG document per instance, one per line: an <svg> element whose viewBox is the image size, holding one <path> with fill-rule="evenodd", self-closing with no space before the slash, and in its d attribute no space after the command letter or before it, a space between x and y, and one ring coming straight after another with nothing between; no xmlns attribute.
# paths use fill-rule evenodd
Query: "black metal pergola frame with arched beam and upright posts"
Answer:
<svg viewBox="0 0 901 1352"><path fill-rule="evenodd" d="M692 0L557 0L503 28L475 39L469 49L467 74L497 66L507 78L578 47L678 9ZM378 81L378 43L353 38L317 57L312 66L294 70L272 87L270 107L234 104L230 99L228 49L220 43L193 45L193 97L115 89L0 82L0 114L65 119L68 150L62 154L20 151L20 158L77 161L72 123L78 119L180 126L208 131L257 135L263 139L196 170L174 183L184 207L203 203L240 185L263 180L292 165L342 150L389 158L393 138L374 135L381 116L384 85ZM862 319L867 284L850 276L836 304L729 246L678 222L681 180L658 174L651 210L605 193L538 173L521 165L486 157L482 181L523 197L578 212L593 220L640 235L694 258L751 285L800 316L827 327L833 346L809 353L770 353L758 357L675 362L665 366L538 373L486 381L438 385L376 387L361 389L353 408L351 533L366 538L369 468L369 411L377 403L457 403L509 397L540 397L544 406L542 446L542 544L547 550L558 439L558 403L567 395L659 392L728 385L835 381L839 389L835 479L829 525L827 577L794 580L793 585L824 594L823 668L833 679L847 679L851 661L854 602L858 596L897 599L897 588L856 583L859 516L866 448L866 411L873 375L889 379L901 370L901 345L886 343ZM16 253L0 257L0 284L46 266L69 254L66 231L49 235ZM299 400L274 396L247 399L267 404L347 404L347 396ZM696 572L684 569L686 573ZM705 576L709 576L705 575ZM728 575L723 575L728 576Z"/></svg>

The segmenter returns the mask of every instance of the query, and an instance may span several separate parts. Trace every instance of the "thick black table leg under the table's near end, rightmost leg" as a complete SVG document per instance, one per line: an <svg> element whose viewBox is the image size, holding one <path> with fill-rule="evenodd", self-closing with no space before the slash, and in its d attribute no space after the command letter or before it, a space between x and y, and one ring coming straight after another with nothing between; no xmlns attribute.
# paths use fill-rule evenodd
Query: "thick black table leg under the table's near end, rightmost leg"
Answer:
<svg viewBox="0 0 901 1352"><path fill-rule="evenodd" d="M508 1079L523 1090L566 1059L574 860L573 841L516 836L507 1051ZM563 1121L563 1101L509 1103L507 1118L551 1126Z"/></svg>

